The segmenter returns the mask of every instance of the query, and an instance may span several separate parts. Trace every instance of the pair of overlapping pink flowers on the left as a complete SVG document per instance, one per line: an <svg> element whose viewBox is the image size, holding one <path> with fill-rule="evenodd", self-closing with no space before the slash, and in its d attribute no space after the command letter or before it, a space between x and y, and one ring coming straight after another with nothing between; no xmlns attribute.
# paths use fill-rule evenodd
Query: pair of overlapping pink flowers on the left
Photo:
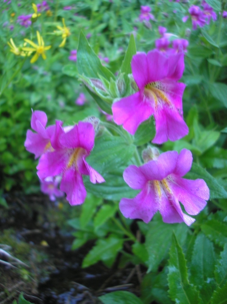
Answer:
<svg viewBox="0 0 227 304"><path fill-rule="evenodd" d="M95 119L93 122L97 125ZM32 111L31 127L36 133L27 131L25 148L34 153L35 158L41 156L37 174L42 183L46 183L50 177L61 176L60 190L66 192L66 199L71 205L81 204L86 197L82 174L89 175L93 184L105 181L86 162L94 146L93 124L80 121L74 126L62 127L62 121L56 120L55 125L46 127L46 123L44 112ZM57 196L56 192L52 194Z"/></svg>

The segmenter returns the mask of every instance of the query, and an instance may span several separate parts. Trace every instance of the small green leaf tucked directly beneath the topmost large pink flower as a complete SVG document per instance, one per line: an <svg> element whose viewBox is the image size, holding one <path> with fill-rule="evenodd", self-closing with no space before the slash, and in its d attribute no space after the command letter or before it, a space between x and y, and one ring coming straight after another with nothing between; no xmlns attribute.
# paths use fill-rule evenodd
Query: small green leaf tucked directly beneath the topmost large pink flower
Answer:
<svg viewBox="0 0 227 304"><path fill-rule="evenodd" d="M155 136L155 124L154 117L147 119L139 125L134 134L134 144L136 146L141 146L151 141Z"/></svg>

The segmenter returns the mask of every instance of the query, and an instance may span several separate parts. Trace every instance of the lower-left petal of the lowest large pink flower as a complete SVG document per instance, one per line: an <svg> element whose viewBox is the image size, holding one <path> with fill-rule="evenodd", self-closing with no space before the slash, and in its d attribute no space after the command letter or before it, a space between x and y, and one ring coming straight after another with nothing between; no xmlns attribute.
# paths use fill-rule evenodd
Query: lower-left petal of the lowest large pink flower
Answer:
<svg viewBox="0 0 227 304"><path fill-rule="evenodd" d="M126 218L142 219L145 223L148 223L154 213L158 211L153 184L146 183L141 192L133 199L121 199L119 208Z"/></svg>

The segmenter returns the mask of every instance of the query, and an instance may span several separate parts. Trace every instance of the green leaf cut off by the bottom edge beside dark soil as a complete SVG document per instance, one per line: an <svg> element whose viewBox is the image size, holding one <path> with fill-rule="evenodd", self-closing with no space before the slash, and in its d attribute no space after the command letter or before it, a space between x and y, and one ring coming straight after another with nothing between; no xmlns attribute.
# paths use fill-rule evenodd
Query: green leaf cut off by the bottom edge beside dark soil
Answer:
<svg viewBox="0 0 227 304"><path fill-rule="evenodd" d="M128 291L114 291L101 295L104 304L144 304L136 295Z"/></svg>

